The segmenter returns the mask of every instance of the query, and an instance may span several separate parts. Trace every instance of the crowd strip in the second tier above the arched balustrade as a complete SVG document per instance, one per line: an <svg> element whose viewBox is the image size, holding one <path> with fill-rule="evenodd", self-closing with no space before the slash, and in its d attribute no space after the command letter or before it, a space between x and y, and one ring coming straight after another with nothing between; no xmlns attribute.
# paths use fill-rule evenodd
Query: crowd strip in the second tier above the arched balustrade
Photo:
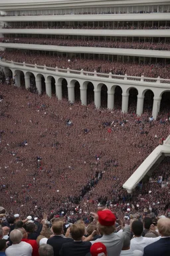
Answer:
<svg viewBox="0 0 170 256"><path fill-rule="evenodd" d="M108 48L122 48L122 49L149 49L159 51L169 51L169 43L139 43L130 42L114 42L114 41L96 41L96 40L76 40L76 39L44 39L44 38L14 38L14 37L1 37L1 43L29 43L37 45L58 45L58 46L71 46L71 47L108 47Z"/></svg>

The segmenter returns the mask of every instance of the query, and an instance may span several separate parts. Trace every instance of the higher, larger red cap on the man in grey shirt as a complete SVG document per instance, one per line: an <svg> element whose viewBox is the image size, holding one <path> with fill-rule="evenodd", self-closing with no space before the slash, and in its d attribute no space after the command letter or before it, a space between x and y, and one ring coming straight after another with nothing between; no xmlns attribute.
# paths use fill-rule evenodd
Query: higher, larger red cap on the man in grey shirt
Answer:
<svg viewBox="0 0 170 256"><path fill-rule="evenodd" d="M110 210L98 211L98 221L102 226L112 226L116 222L116 216Z"/></svg>

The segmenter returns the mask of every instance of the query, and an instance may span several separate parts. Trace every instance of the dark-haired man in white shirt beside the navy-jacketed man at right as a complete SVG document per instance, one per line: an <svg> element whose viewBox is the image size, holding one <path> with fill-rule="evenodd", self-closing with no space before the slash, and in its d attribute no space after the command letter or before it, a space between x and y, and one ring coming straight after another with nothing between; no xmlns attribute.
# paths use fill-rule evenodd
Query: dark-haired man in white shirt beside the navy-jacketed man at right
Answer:
<svg viewBox="0 0 170 256"><path fill-rule="evenodd" d="M132 251L140 250L143 253L143 249L147 245L150 245L151 243L154 243L161 238L161 237L154 237L154 238L142 237L141 233L143 232L143 224L141 223L141 221L133 221L131 225L131 231L135 236L131 239L131 243L130 243L130 249Z"/></svg>

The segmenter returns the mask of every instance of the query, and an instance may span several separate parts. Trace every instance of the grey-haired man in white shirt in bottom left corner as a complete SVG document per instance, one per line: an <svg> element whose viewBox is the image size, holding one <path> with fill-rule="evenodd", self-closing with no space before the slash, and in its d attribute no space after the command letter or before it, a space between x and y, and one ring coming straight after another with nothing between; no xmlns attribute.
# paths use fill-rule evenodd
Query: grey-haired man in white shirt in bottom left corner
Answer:
<svg viewBox="0 0 170 256"><path fill-rule="evenodd" d="M29 243L21 242L23 234L18 229L11 231L9 235L13 245L9 246L5 254L7 256L31 256L33 248Z"/></svg>

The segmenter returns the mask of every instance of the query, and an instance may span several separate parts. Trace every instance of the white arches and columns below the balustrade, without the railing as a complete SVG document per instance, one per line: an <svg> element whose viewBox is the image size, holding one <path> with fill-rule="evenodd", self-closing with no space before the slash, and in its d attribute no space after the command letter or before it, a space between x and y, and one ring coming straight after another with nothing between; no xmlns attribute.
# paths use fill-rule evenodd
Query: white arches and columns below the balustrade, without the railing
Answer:
<svg viewBox="0 0 170 256"><path fill-rule="evenodd" d="M25 78L25 88L29 89L31 87L31 72L30 71L21 71L16 69L9 69L5 67L5 72L11 70L13 73L13 77L15 77L15 84L17 87L21 87L21 73L24 73ZM114 101L115 101L115 90L116 87L120 87L122 89L122 112L127 113L129 107L129 91L131 89L137 90L137 105L136 105L136 113L137 115L141 115L143 113L143 103L145 99L145 93L150 90L153 92L153 105L152 105L152 115L153 118L156 119L160 110L161 105L161 96L164 92L169 91L170 89L167 87L154 87L154 86L141 86L141 85L126 85L125 83L117 83L113 84L108 81L96 81L93 78L85 77L83 78L71 78L66 77L63 74L63 77L59 77L56 75L43 75L43 73L32 72L35 76L35 85L37 87L38 93L41 95L42 93L42 77L44 78L45 83L45 93L52 97L52 93L56 95L56 97L61 100L63 97L63 89L62 89L62 81L66 80L67 83L67 93L68 93L68 101L70 103L75 102L75 85L79 85L80 87L80 101L82 105L88 104L88 85L92 84L94 87L94 105L96 108L100 108L101 105L101 91L102 87L107 88L107 107L108 109L114 109ZM53 83L52 83L53 81ZM52 88L53 84L53 88ZM77 87L77 86L76 86Z"/></svg>

